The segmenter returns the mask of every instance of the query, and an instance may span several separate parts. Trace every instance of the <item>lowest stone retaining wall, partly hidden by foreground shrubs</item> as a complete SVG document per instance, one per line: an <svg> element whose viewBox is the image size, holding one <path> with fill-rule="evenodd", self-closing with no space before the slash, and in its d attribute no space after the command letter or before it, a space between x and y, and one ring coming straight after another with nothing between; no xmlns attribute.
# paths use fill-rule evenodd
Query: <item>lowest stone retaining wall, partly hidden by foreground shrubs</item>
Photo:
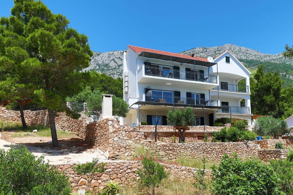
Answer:
<svg viewBox="0 0 293 195"><path fill-rule="evenodd" d="M197 168L183 167L171 164L161 163L166 172L172 176L185 178L193 178L197 174ZM69 178L69 183L74 191L78 189L87 189L87 176L77 174L74 171L76 165L66 164L57 165L57 170L64 172L66 177ZM105 166L105 172L96 175L91 181L91 190L96 190L105 186L106 182L110 182L112 179L114 182L119 182L120 185L123 184L135 184L134 179L139 179L136 171L142 167L140 161L120 161L120 162L110 162ZM211 170L206 170L207 177L211 176Z"/></svg>

